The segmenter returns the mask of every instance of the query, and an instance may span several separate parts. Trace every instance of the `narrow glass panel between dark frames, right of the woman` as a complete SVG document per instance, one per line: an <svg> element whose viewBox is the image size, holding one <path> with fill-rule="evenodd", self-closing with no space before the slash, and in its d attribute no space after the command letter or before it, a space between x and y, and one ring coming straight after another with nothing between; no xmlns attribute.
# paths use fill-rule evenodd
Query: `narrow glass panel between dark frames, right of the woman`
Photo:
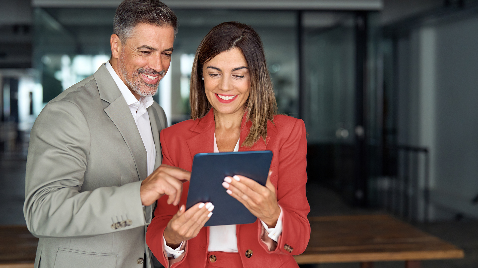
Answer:
<svg viewBox="0 0 478 268"><path fill-rule="evenodd" d="M354 140L354 26L351 12L304 12L303 119L309 144Z"/></svg>

